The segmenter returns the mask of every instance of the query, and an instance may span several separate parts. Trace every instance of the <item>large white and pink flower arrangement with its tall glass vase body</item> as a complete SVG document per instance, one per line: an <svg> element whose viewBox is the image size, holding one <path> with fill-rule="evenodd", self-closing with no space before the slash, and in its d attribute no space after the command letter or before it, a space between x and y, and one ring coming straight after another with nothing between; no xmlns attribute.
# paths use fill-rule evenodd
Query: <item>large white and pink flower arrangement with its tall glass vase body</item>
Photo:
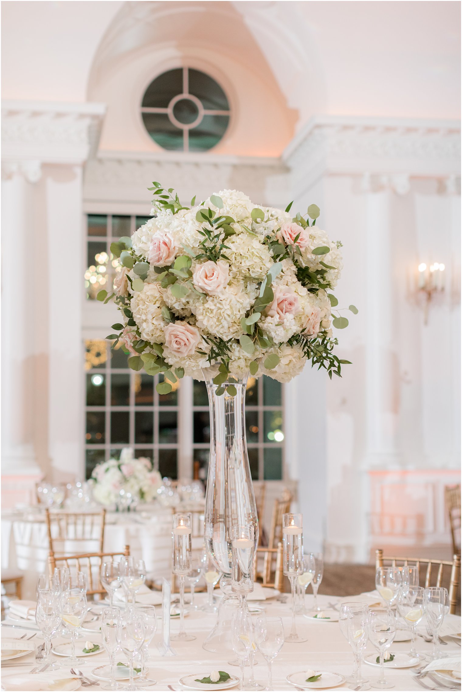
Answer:
<svg viewBox="0 0 462 692"><path fill-rule="evenodd" d="M120 271L113 325L133 370L162 374L160 394L185 375L205 380L210 401L210 464L205 543L217 569L231 572L232 526L258 520L246 446L248 374L288 382L306 361L340 376L332 326L346 317L331 291L342 270L341 243L306 214L256 206L222 190L183 206L172 188L153 183L155 215L131 238L111 245ZM349 310L357 312L351 305Z"/></svg>

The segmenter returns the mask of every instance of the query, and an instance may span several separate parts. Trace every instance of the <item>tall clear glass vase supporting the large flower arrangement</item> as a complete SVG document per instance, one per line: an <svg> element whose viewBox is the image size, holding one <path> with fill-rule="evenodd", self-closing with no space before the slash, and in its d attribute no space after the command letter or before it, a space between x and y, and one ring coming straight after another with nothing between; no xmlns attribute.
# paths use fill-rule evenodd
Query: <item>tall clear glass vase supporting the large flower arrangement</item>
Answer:
<svg viewBox="0 0 462 692"><path fill-rule="evenodd" d="M206 380L210 404L210 462L205 493L204 538L210 558L223 575L220 587L225 594L216 626L203 644L210 651L219 650L221 646L232 648L230 617L225 615L230 608L234 609L237 601L231 594L232 527L252 526L255 550L259 539L246 442L246 384L247 376L226 383L222 385L225 393L217 397L219 385ZM227 391L232 385L237 390L234 397Z"/></svg>

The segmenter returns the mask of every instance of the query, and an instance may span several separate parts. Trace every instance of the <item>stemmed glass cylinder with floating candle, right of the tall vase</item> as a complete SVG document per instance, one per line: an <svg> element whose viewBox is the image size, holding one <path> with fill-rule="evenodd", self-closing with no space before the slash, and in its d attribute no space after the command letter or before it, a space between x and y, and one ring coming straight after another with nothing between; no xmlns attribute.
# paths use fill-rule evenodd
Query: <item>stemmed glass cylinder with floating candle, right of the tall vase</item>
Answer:
<svg viewBox="0 0 462 692"><path fill-rule="evenodd" d="M302 514L287 513L282 515L282 565L283 572L290 581L292 591L292 628L285 641L306 641L297 634L295 626L295 583L299 574L303 574L303 517Z"/></svg>

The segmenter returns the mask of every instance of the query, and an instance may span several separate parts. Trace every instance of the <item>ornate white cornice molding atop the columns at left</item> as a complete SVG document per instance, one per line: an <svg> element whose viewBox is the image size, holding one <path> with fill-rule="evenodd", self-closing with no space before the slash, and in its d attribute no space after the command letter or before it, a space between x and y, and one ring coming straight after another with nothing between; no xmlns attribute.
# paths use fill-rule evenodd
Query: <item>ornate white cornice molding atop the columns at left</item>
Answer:
<svg viewBox="0 0 462 692"><path fill-rule="evenodd" d="M6 176L39 180L43 163L81 165L98 147L106 111L99 103L4 101L1 158Z"/></svg>

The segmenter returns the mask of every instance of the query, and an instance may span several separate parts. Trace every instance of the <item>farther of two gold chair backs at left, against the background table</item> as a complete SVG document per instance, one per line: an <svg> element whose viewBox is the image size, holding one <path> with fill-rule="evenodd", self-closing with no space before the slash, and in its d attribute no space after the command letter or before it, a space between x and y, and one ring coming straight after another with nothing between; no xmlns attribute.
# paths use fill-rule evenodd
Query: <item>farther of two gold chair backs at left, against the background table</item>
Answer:
<svg viewBox="0 0 462 692"><path fill-rule="evenodd" d="M53 552L67 552L65 542L69 541L76 547L82 543L97 543L98 552L102 552L104 542L104 525L106 510L100 512L50 512L45 510L45 520L48 529L48 543ZM78 552L78 547L77 551Z"/></svg>

